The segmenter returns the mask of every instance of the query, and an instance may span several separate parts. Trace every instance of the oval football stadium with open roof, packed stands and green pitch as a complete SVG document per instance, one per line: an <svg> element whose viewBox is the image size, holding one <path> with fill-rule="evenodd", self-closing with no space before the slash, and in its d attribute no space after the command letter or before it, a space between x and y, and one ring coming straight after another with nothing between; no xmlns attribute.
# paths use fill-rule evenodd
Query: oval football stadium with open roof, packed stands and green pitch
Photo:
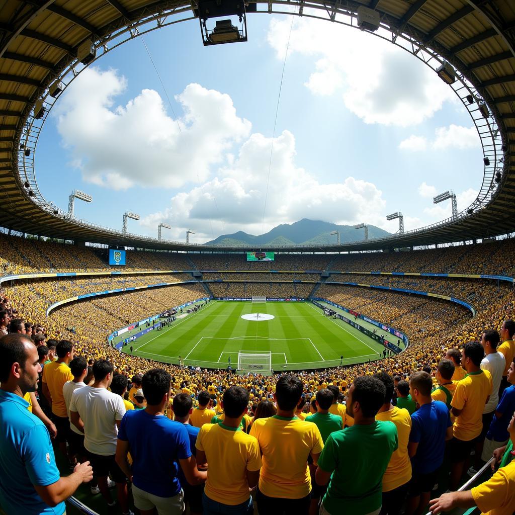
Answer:
<svg viewBox="0 0 515 515"><path fill-rule="evenodd" d="M171 396L179 399L181 394L186 394L192 399L190 405L194 411L199 409L199 394L206 390L211 394L209 406L217 406L216 413L221 414L221 402L229 406L230 396L227 402L224 401L225 393L232 387L243 387L248 402L240 421L254 417L256 407L262 402L272 404L277 401L274 398L276 383L279 385L281 377L289 377L289 374L302 382L302 402L298 411L292 411L294 418L298 413L302 419L310 409L317 410L315 399L321 406L322 396L319 402L317 392L328 391L328 386L337 388L339 394L336 393L334 403L342 406L338 409L345 413L344 397L349 395L351 385L355 383L353 388L358 388L357 379L365 377L372 381L374 374L379 372L391 377L392 381L396 377L396 382L409 383L409 377L414 373L431 370L428 373L433 377L433 387L438 389L438 384L441 385L436 382L439 364L448 357L448 351L457 349L459 356L463 351L461 359L465 367L464 360L472 363L472 358L466 356L466 349L472 347L467 345L483 341L484 333L489 330L500 332L503 346L508 342L507 354L496 352L495 345L493 351L503 355L506 370L509 368L515 357L515 344L513 333L506 338L503 334L508 331L504 323L515 317L515 159L511 155L511 150L515 151L515 6L511 2L349 0L285 3L278 0L250 1L243 5L231 0L199 0L187 4L144 0L5 0L0 5L0 331L6 338L9 338L8 333L23 332L35 343L46 340L49 345L50 340L54 340L59 346L58 342L70 341L72 355L84 357L93 367L95 362L107 361L111 365L111 380L112 374L124 376L127 390L131 389L131 383L132 388L137 386L134 376L140 374L140 385L136 388L139 391L141 375L151 369L162 369L169 374ZM294 10L291 10L292 6ZM370 33L370 37L380 28L381 34L376 36L399 45L414 59L432 68L468 112L480 139L484 156L483 179L481 184L474 184L478 194L472 203L458 211L454 193L445 192L435 197L435 203L450 200L453 203L451 217L405 231L402 214L393 213L388 219L399 218L399 231L384 237L369 238L365 222L356 226L365 229L364 239L356 241L340 243L337 234L337 241L331 244L228 247L190 243L188 234L186 242L167 240L161 237L161 229L170 228L164 222L159 225L157 238L132 234L127 228L127 218L138 219L139 215L130 211L124 214L122 231L93 224L74 215L75 200L91 201L80 191L74 191L70 196L67 211L43 197L35 169L40 134L54 105L59 106L60 95L83 70L125 41L192 18L200 21L205 46L246 41L247 16L250 18L258 13L311 16L358 28ZM217 23L214 29L207 28L213 26L215 19L228 16L239 17L243 28L238 30L227 23ZM10 320L21 320L25 329L14 330L17 326L9 325ZM44 335L44 338L37 340L38 335ZM454 366L461 370L459 359ZM46 367L45 364L42 370ZM473 365L470 367L470 370L465 369L468 375L475 377L474 374L480 373ZM511 376L510 372L508 375L504 372L499 381L504 381L505 391L508 391L512 388L507 383ZM3 388L4 383L14 381L9 377L9 381L4 379ZM40 383L46 385L44 377ZM375 383L381 381L375 378ZM515 377L511 384L515 384ZM411 386L413 393L414 386ZM396 399L397 387L396 384ZM491 388L492 395L494 389ZM45 408L45 399L41 391L38 392L41 407ZM62 387L60 394L62 397ZM383 397L385 395L390 405L393 397L388 397L383 388ZM50 422L56 416L51 406L55 399L51 397L45 409L38 409L45 417L41 419L43 423L55 428L58 424ZM411 401L411 397L409 399ZM490 392L487 403L489 399ZM132 398L130 400L134 402ZM497 401L501 402L500 395L497 395ZM280 412L284 415L288 411L279 401L275 404L273 413L277 410L278 415ZM415 401L413 404L415 406ZM485 403L479 411L476 409L475 418L485 426L484 406ZM416 407L421 411L422 402ZM71 418L71 422L67 421L71 415L69 406L66 408L68 413L64 412L64 419L68 431L70 427L73 430L73 424L70 426L73 421ZM448 408L453 423L466 409L453 412L452 403ZM163 413L173 419L174 409L170 400ZM348 404L346 409L347 415L341 417L340 423L342 429L347 426L344 433L354 424ZM394 409L393 404L390 409ZM512 436L515 435L513 409L515 404L512 402L509 417L496 406L486 413L491 417L507 417L508 422L511 419L510 438L515 438ZM177 413L176 418L179 417ZM230 417L229 413L226 407L224 416L228 420L237 418ZM341 411L337 413L341 415ZM6 424L4 416L0 413L0 426ZM62 415L57 417L63 418ZM393 503L397 503L395 508L381 513L400 513L401 509L409 514L427 513L430 497L436 499L443 494L441 499L451 499L445 496L470 491L470 499L459 497L458 502L458 496L452 497L454 504L447 505L450 512L514 513L515 469L512 464L499 469L506 472L502 478L504 483L497 484L497 491L505 488L511 492L504 497L504 504L492 504L486 494L485 499L479 497L479 492L483 492L480 485L490 480L493 458L488 456L478 463L475 456L481 455L486 447L486 443L483 447L483 441L487 441L485 437L489 438L490 420L481 430L482 447L475 448L476 454L471 454L472 444L470 448L462 445L467 451L463 460L467 468L459 470L457 484L453 484L454 464L459 460L455 460L452 450L448 449L446 452L451 457L446 454L443 464L432 471L435 477L430 491L422 489L422 494L419 492L420 505L410 505L411 493L404 504L408 495L406 489L399 491L399 497ZM116 419L116 422L120 420ZM409 425L411 427L411 422ZM235 432L237 427L234 427ZM244 432L250 431L250 435L256 435L260 442L263 467L269 467L270 461L265 465L268 451L261 444L257 430L254 432L250 424L247 429L244 427ZM61 431L59 427L57 431ZM85 432L82 431L86 437L87 431L87 427ZM472 441L470 438L460 440L456 430L451 438L452 442L458 440L461 444ZM477 438L478 435L474 435L474 443ZM398 440L400 449L400 433ZM508 437L493 440L509 445ZM412 440L409 442L411 444ZM445 447L443 439L441 443ZM409 457L412 458L415 470L416 460L407 454L409 444L407 438L402 442L404 457L408 464ZM72 461L67 462L70 442L68 447L65 443L64 448L54 444L54 449L62 479L70 473L68 466L73 465ZM320 453L313 449L310 459L316 463L313 454ZM85 450L93 452L87 447ZM197 444L197 452L199 450ZM206 498L213 499L207 494L214 491L214 487L208 486L209 470L214 462L222 462L223 456L210 461L207 449L201 455L207 456L210 465L204 490L204 512L211 513L214 511L207 511L205 504ZM46 454L46 460L50 464L49 454ZM302 465L304 476L306 460ZM182 465L183 460L180 461ZM463 461L460 461L461 466ZM385 468L387 463L388 460ZM327 464L327 461L319 461L317 470L323 471L321 464ZM0 458L0 467L3 465ZM307 469L307 482L313 485L313 490L308 489L308 496L315 492L315 482L320 485L320 473L315 472L313 463L310 467L311 479L310 469ZM176 465L176 468L180 467ZM197 470L196 466L194 468ZM265 503L270 499L284 501L284 497L287 501L298 501L305 497L305 492L297 497L289 493L271 494L271 490L266 490L266 485L261 483L263 476L266 477L264 468L259 488L250 497L254 499L254 506L251 501L250 508L247 506L248 513L252 509L263 513ZM467 469L472 478L470 481ZM205 473L200 467L198 470ZM427 475L425 472L422 475ZM402 475L399 471L396 473ZM94 482L97 476L104 477L97 472ZM66 500L68 513L102 514L120 509L126 514L127 510L129 513L130 510L146 513L144 504L136 500L130 482L127 494L126 476L123 481L118 481L111 474L118 492L118 505L114 508L111 504L106 505L106 495L110 494L102 491L101 481L95 495L92 494L93 487L90 491L89 485L78 486L79 482L78 489L63 499L59 497L59 502ZM331 493L332 489L337 489L334 486L336 476L335 472L327 490L329 493L324 490L320 495L318 492L318 504L314 503L314 497L311 505L308 500L300 508L291 504L291 508L277 512L308 513L309 509L309 513L331 515L380 513L376 505L353 508L354 505L349 504L341 511L332 508L330 499L335 495ZM186 477L190 478L187 474ZM370 487L379 488L379 499L382 491L383 509L386 509L385 493L388 491L384 490L384 482L381 490L381 477L379 487L377 484ZM8 484L6 479L7 475L0 477L0 510L9 514L13 510L7 501L7 486L3 486ZM327 479L329 481L329 477ZM406 486L410 480L411 477L404 479L404 483L396 488ZM118 488L121 484L126 492L123 502L120 500L123 494ZM244 484L244 490L248 493L247 487L252 486L249 480ZM236 488L233 478L226 478L225 487L229 492ZM42 502L40 491L36 491L37 502ZM368 493L359 494L363 499L368 496ZM370 493L370 496L373 495ZM348 497L344 497L348 501ZM186 491L186 500L189 499ZM20 501L23 504L24 499ZM43 501L47 500L43 497ZM241 504L234 501L224 505L224 501L215 501L222 506ZM124 504L127 502L129 504ZM57 502L54 505L64 506ZM27 508L27 513L42 512L39 506L33 511ZM368 511L366 506L370 508ZM193 504L188 505L187 510L199 512ZM161 513L159 509L157 511ZM61 509L58 515L62 512ZM182 501L178 511L170 512L182 512Z"/></svg>

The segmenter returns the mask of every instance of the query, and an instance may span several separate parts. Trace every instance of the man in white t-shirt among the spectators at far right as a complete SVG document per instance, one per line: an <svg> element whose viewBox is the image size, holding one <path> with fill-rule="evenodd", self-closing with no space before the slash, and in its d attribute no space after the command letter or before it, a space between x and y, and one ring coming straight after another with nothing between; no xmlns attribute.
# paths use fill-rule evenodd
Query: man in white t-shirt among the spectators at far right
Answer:
<svg viewBox="0 0 515 515"><path fill-rule="evenodd" d="M488 402L485 404L483 409L483 430L477 437L477 441L474 445L475 459L474 466L470 467L468 474L472 477L481 467L484 462L481 459L483 453L483 445L485 443L486 434L490 428L493 416L495 414L495 408L499 404L499 388L501 386L501 379L506 366L506 361L503 354L497 351L497 346L501 342L501 337L497 331L488 329L485 331L480 339L480 343L485 349L485 357L481 362L481 369L488 370L492 376L493 390L490 394Z"/></svg>

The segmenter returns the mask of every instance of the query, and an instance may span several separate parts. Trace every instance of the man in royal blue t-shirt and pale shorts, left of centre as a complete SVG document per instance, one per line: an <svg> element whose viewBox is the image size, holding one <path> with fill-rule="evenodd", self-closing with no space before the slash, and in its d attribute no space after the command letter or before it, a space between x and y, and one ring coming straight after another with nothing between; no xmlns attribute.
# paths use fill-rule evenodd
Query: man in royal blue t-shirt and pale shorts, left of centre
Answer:
<svg viewBox="0 0 515 515"><path fill-rule="evenodd" d="M183 494L177 462L191 485L205 482L207 473L197 470L184 425L164 416L164 408L170 402L170 380L170 374L159 368L143 376L147 407L124 415L118 431L116 463L132 479L136 508L157 508L158 512L181 515ZM127 461L129 452L132 467Z"/></svg>

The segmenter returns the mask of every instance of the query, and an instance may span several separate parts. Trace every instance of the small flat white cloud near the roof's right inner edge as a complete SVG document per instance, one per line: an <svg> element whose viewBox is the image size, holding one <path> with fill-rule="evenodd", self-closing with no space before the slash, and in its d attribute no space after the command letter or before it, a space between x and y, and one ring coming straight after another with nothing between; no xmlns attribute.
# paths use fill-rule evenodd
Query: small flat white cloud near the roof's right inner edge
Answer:
<svg viewBox="0 0 515 515"><path fill-rule="evenodd" d="M435 138L427 140L424 136L411 134L409 138L399 143L401 150L421 151L426 149L445 150L457 148L460 150L477 148L481 146L475 127L462 127L451 124L449 127L437 127Z"/></svg>

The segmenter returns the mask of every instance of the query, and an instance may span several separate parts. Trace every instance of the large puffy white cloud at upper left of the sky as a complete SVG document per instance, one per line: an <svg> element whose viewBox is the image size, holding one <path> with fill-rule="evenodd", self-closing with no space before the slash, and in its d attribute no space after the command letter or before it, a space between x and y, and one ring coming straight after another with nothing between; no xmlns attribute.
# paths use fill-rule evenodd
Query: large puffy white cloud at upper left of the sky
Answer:
<svg viewBox="0 0 515 515"><path fill-rule="evenodd" d="M86 181L114 190L203 181L250 133L229 95L189 84L176 96L183 111L178 124L153 90L115 107L126 86L114 70L88 68L56 106L63 145Z"/></svg>

